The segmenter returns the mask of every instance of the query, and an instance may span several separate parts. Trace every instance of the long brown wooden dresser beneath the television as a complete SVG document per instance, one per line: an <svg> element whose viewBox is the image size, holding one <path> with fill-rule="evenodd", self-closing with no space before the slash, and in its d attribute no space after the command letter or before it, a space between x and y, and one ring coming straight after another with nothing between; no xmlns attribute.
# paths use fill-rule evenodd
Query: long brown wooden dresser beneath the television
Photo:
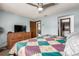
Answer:
<svg viewBox="0 0 79 59"><path fill-rule="evenodd" d="M22 40L31 38L30 32L12 32L7 34L7 47L10 49L13 45Z"/></svg>

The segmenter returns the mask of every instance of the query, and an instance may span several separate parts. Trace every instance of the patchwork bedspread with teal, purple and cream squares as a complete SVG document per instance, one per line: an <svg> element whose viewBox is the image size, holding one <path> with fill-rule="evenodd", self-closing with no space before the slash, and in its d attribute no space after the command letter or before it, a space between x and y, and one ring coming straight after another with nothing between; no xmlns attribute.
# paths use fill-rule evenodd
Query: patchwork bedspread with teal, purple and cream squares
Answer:
<svg viewBox="0 0 79 59"><path fill-rule="evenodd" d="M64 43L64 37L41 36L17 42L9 54L18 56L62 56Z"/></svg>

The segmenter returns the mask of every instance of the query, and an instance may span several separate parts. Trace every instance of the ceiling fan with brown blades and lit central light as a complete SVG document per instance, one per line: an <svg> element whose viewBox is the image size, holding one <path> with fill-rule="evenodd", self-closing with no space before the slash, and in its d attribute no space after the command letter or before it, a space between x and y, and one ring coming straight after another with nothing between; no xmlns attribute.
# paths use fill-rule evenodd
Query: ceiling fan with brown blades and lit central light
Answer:
<svg viewBox="0 0 79 59"><path fill-rule="evenodd" d="M46 8L48 8L50 6L56 5L56 3L48 3L48 4L44 4L44 3L36 3L36 4L27 3L27 4L32 5L34 7L37 7L39 13L41 13L43 10L45 10Z"/></svg>

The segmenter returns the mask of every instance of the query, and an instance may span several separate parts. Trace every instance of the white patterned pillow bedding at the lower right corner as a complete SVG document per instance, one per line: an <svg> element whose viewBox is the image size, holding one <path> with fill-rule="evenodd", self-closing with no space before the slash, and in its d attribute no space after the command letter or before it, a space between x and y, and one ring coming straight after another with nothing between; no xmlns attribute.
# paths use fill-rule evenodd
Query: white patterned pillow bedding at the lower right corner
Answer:
<svg viewBox="0 0 79 59"><path fill-rule="evenodd" d="M64 53L66 56L79 56L79 32L69 34Z"/></svg>

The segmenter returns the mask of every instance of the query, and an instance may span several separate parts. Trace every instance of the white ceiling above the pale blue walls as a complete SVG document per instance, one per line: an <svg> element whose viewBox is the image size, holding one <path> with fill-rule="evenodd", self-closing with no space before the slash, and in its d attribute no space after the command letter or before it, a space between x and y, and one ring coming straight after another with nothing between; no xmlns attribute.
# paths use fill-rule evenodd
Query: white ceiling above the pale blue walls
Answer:
<svg viewBox="0 0 79 59"><path fill-rule="evenodd" d="M78 3L58 3L57 5L51 6L44 10L43 13L39 14L36 7L33 7L26 3L2 3L0 4L0 6L1 10L32 19L44 17L45 15L51 15L74 8L79 8Z"/></svg>

